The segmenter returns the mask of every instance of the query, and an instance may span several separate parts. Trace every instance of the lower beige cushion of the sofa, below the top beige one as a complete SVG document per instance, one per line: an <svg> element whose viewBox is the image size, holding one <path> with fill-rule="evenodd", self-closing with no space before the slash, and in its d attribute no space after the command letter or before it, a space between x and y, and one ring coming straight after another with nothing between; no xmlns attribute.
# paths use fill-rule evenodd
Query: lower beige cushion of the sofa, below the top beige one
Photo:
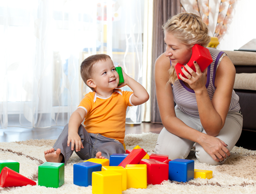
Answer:
<svg viewBox="0 0 256 194"><path fill-rule="evenodd" d="M256 90L256 73L236 73L234 89Z"/></svg>

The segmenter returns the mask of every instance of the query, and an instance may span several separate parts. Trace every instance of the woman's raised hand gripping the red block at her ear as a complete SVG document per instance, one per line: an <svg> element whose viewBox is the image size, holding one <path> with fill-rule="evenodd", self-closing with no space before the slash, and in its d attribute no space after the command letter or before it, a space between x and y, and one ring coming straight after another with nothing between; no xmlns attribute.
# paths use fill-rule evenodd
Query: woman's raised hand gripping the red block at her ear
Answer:
<svg viewBox="0 0 256 194"><path fill-rule="evenodd" d="M184 78L181 74L179 74L179 77L182 79L182 81L189 84L190 88L193 90L199 90L201 88L205 88L205 73L206 69L201 72L199 65L196 61L194 61L194 66L196 72L194 72L187 64L184 65L184 68L182 68L182 72L187 78ZM189 75L189 73L191 74Z"/></svg>

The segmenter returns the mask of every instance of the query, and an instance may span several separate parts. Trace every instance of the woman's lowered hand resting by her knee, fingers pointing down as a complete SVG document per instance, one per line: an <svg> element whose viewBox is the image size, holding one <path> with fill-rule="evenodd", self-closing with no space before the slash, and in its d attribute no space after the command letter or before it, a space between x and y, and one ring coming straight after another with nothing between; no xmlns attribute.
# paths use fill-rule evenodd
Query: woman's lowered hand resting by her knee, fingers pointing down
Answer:
<svg viewBox="0 0 256 194"><path fill-rule="evenodd" d="M216 162L221 162L230 156L230 151L226 148L227 145L219 138L207 135L199 144Z"/></svg>

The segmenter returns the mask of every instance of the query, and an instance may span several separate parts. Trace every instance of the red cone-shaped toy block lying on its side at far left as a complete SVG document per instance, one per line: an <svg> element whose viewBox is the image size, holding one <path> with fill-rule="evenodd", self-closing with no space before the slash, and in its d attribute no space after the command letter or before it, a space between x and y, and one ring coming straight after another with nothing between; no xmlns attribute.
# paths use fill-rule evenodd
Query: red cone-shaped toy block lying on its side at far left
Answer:
<svg viewBox="0 0 256 194"><path fill-rule="evenodd" d="M0 186L1 187L12 187L12 186L26 186L36 185L35 181L32 181L25 176L15 172L14 170L4 167L0 174Z"/></svg>

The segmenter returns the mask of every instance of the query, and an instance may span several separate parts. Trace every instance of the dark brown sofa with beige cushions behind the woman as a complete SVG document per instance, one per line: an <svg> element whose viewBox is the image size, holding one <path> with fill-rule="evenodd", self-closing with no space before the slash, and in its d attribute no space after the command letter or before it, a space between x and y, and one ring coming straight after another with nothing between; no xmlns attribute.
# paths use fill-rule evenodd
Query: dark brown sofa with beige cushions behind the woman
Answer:
<svg viewBox="0 0 256 194"><path fill-rule="evenodd" d="M234 90L239 96L243 131L238 146L256 150L256 52L223 50L236 68Z"/></svg>

